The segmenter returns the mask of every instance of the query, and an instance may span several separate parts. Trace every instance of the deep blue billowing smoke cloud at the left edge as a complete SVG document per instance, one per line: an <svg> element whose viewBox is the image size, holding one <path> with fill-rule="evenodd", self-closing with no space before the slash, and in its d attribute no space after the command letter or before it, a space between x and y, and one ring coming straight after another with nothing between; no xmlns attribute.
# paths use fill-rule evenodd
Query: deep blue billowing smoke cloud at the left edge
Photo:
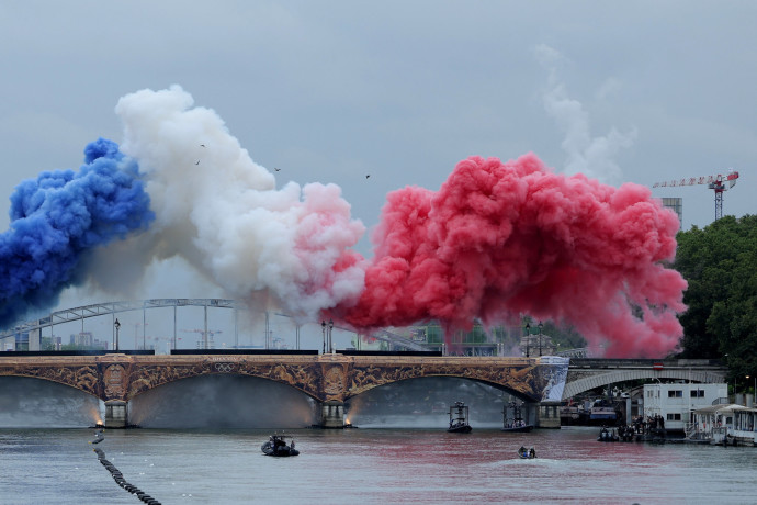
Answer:
<svg viewBox="0 0 757 505"><path fill-rule="evenodd" d="M58 302L98 246L147 229L155 220L136 161L105 138L84 148L84 165L44 171L11 195L0 235L0 326Z"/></svg>

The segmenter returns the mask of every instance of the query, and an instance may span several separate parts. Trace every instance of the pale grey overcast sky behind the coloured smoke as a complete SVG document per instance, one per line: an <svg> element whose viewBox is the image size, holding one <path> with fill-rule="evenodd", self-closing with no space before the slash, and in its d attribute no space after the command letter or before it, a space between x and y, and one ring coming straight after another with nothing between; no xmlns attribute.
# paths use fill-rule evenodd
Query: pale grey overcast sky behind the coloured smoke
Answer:
<svg viewBox="0 0 757 505"><path fill-rule="evenodd" d="M742 216L757 186L756 14L748 1L5 2L0 195L77 169L99 137L124 142L122 97L176 85L276 188L340 188L369 258L387 193L439 190L470 156L533 153L614 187L733 168L723 211ZM683 198L683 229L714 218L704 186L653 195ZM124 295L228 296L182 259L146 279ZM113 298L88 285L59 306Z"/></svg>

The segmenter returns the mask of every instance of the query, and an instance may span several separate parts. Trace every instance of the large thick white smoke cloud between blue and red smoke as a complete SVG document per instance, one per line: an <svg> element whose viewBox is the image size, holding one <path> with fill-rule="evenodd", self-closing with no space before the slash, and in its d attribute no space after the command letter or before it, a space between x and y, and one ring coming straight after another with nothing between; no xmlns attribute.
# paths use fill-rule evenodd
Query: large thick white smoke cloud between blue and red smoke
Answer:
<svg viewBox="0 0 757 505"><path fill-rule="evenodd" d="M182 257L236 299L293 316L355 299L362 258L349 250L364 226L335 184L289 182L275 188L210 109L193 106L178 86L123 97L121 149L146 175L156 222L147 234L98 257L102 273L118 266L118 282L139 278L155 259ZM112 271L112 270L111 270Z"/></svg>

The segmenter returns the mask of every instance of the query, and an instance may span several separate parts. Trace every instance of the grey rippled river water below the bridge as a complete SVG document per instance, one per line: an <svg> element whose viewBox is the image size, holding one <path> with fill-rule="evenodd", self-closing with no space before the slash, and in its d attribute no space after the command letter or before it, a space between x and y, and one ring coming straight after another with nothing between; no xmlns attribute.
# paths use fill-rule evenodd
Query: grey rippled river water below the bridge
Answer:
<svg viewBox="0 0 757 505"><path fill-rule="evenodd" d="M603 444L597 429L291 430L301 454L269 458L269 430L0 428L0 503L142 503L99 463L163 504L755 503L755 448ZM539 458L518 459L520 446Z"/></svg>

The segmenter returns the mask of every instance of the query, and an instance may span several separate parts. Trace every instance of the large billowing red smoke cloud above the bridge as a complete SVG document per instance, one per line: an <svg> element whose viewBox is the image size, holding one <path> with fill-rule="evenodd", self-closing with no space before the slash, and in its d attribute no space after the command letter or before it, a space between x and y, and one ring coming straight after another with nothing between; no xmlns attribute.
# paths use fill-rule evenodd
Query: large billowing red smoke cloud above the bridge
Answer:
<svg viewBox="0 0 757 505"><path fill-rule="evenodd" d="M530 314L609 357L660 357L682 335L676 215L636 184L547 170L534 155L461 161L438 192L388 194L365 290L334 312L358 328L439 319L448 334Z"/></svg>

